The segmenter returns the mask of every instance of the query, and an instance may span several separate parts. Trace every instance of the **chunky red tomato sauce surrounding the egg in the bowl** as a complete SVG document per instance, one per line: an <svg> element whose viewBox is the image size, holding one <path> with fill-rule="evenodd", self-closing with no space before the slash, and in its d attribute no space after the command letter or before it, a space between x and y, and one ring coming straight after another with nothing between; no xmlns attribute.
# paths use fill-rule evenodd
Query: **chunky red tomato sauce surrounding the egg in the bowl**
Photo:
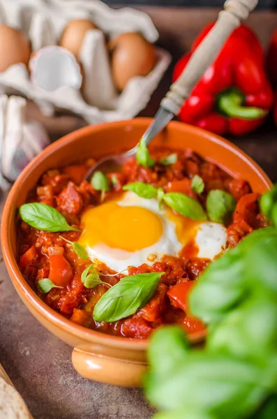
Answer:
<svg viewBox="0 0 277 419"><path fill-rule="evenodd" d="M190 149L180 151L156 148L152 150L151 156L158 161L172 152L177 152L178 159L171 166L155 164L153 168L145 168L135 159L130 159L121 172L109 173L111 191L105 193L105 200L121 193L124 184L137 181L162 187L165 192L185 193L202 205L209 191L222 189L231 193L237 201L232 223L227 226L227 247L236 246L255 228L267 226L267 221L258 210L258 195L252 193L245 180L233 179L214 163L204 161ZM27 202L50 205L65 216L71 226L80 227L84 211L100 203L100 192L82 180L93 163L93 159L89 159L84 163L47 170L36 189L29 194ZM205 188L201 196L191 187L194 175L204 180ZM204 329L202 322L189 313L187 296L210 260L197 258L197 246L193 241L186 244L179 257L165 255L151 266L143 264L129 267L128 274L165 274L160 279L154 297L142 309L123 320L106 323L93 320L93 308L110 288L109 284L117 284L123 274L105 276L114 272L106 265L100 265L103 274L101 279L107 284L100 284L93 289L85 288L81 275L91 261L79 258L73 247L62 237L77 241L80 233L48 233L32 228L24 221L19 222L18 260L22 274L45 303L61 315L86 328L128 338L147 338L154 329L169 323L180 324L188 333ZM46 294L40 293L36 284L45 278L50 278L53 284L61 288L52 288Z"/></svg>

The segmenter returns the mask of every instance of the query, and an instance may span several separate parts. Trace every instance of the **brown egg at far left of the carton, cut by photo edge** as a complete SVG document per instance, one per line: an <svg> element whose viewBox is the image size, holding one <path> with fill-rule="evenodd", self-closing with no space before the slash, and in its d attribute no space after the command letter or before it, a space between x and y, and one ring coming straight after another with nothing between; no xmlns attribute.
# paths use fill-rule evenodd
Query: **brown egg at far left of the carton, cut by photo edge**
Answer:
<svg viewBox="0 0 277 419"><path fill-rule="evenodd" d="M0 24L0 72L13 64L28 64L31 54L29 39L21 31Z"/></svg>

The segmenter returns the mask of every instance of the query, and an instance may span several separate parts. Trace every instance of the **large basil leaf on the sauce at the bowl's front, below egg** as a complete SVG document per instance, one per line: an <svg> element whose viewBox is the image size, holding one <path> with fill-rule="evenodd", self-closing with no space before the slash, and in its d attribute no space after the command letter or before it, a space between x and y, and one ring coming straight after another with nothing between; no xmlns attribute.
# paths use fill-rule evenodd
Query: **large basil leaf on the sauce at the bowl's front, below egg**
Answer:
<svg viewBox="0 0 277 419"><path fill-rule="evenodd" d="M153 297L164 273L137 274L121 279L98 300L93 311L94 320L114 322L134 314Z"/></svg>

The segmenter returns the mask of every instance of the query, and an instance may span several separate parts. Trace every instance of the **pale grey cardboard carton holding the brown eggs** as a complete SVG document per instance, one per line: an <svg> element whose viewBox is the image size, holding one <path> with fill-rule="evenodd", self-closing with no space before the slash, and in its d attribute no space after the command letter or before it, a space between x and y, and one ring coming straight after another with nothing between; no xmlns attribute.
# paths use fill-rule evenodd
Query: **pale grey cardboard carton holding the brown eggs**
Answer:
<svg viewBox="0 0 277 419"><path fill-rule="evenodd" d="M119 94L112 82L105 36L135 31L154 43L158 31L148 15L132 8L114 10L98 0L0 0L0 21L23 31L32 52L57 45L66 24L80 18L101 29L87 31L77 57L84 72L82 91L68 86L45 91L31 81L27 66L14 64L0 73L0 93L25 96L44 115L52 116L57 109L73 112L88 124L134 117L147 105L170 64L170 54L157 47L151 73L130 79Z"/></svg>

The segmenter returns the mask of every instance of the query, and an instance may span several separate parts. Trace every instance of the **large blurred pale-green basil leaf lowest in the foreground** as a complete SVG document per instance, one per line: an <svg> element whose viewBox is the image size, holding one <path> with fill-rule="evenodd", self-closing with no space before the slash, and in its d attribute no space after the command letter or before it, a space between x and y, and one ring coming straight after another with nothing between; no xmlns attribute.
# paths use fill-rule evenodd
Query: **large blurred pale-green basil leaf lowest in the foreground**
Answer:
<svg viewBox="0 0 277 419"><path fill-rule="evenodd" d="M165 357L169 355L160 351ZM246 418L267 395L267 384L263 383L267 374L260 363L218 352L194 351L163 377L155 370L150 372L147 397L158 409L186 411L186 406L197 406L216 418Z"/></svg>

